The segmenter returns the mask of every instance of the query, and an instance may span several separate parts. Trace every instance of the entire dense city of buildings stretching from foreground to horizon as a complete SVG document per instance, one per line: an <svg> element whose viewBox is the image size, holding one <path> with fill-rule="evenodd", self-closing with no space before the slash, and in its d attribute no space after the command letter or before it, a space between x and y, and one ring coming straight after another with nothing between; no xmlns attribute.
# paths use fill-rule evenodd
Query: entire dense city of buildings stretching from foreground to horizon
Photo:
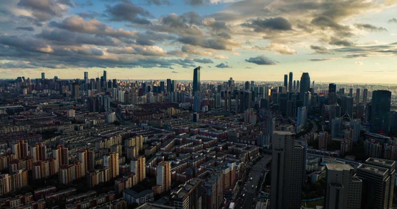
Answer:
<svg viewBox="0 0 397 209"><path fill-rule="evenodd" d="M200 81L200 67L1 80L1 208L392 208L396 93L306 72Z"/></svg>

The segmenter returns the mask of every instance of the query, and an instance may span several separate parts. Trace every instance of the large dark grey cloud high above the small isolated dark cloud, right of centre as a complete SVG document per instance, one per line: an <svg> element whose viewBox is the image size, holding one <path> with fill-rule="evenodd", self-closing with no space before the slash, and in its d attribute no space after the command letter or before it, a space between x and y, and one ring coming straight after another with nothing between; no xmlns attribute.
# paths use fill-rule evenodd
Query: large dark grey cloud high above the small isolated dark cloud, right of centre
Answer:
<svg viewBox="0 0 397 209"><path fill-rule="evenodd" d="M275 17L268 19L252 19L250 23L243 23L242 26L253 28L255 32L264 32L267 30L291 30L292 25L284 17Z"/></svg>

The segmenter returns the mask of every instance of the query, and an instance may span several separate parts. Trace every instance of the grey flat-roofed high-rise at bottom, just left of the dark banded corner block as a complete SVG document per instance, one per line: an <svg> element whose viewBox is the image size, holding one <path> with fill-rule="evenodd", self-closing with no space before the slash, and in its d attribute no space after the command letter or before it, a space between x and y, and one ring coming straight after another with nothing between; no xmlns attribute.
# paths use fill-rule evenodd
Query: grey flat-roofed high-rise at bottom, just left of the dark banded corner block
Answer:
<svg viewBox="0 0 397 209"><path fill-rule="evenodd" d="M354 169L348 164L326 164L327 209L360 209L362 180L354 175Z"/></svg>

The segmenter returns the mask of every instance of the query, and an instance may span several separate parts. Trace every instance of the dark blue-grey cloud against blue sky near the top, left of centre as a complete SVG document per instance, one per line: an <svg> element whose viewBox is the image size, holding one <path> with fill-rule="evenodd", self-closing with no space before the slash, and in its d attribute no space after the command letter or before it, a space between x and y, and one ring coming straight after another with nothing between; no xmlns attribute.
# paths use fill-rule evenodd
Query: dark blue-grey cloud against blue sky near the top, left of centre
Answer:
<svg viewBox="0 0 397 209"><path fill-rule="evenodd" d="M150 25L150 21L145 17L152 17L149 11L136 6L131 2L121 2L114 6L106 6L105 13L109 16L110 21L137 23Z"/></svg>

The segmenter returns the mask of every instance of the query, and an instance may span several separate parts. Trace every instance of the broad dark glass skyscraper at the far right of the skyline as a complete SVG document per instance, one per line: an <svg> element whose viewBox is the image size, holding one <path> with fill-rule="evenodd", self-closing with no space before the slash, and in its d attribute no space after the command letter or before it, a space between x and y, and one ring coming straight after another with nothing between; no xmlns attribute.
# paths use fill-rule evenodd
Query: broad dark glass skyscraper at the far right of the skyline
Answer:
<svg viewBox="0 0 397 209"><path fill-rule="evenodd" d="M376 90L372 92L371 126L372 133L389 133L391 91Z"/></svg>

